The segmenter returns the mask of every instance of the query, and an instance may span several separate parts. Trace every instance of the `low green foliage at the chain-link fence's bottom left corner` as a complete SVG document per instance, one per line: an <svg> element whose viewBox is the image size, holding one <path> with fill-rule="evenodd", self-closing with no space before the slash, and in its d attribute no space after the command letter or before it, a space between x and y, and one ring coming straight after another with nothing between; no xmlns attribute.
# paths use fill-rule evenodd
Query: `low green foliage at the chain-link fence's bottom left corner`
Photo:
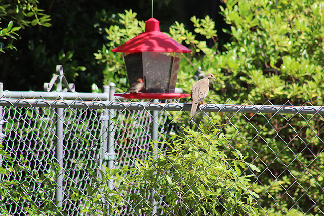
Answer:
<svg viewBox="0 0 324 216"><path fill-rule="evenodd" d="M2 158L1 158L2 157ZM11 215L8 209L20 209L30 215L64 215L62 207L50 199L58 187L52 174L39 174L31 170L21 155L22 163L10 157L0 144L0 158L7 167L0 167L0 214ZM52 164L55 166L55 164ZM16 176L22 176L16 180ZM18 211L18 213L20 212Z"/></svg>

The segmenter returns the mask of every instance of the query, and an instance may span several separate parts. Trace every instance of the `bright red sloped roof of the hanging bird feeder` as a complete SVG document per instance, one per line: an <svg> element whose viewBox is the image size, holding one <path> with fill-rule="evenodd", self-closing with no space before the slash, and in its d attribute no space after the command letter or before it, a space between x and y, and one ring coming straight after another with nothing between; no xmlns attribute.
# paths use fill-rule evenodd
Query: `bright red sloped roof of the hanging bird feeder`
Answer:
<svg viewBox="0 0 324 216"><path fill-rule="evenodd" d="M145 22L145 32L137 35L133 39L125 42L112 50L113 52L192 52L190 49L179 44L174 39L160 31L160 22L157 19L150 18Z"/></svg>

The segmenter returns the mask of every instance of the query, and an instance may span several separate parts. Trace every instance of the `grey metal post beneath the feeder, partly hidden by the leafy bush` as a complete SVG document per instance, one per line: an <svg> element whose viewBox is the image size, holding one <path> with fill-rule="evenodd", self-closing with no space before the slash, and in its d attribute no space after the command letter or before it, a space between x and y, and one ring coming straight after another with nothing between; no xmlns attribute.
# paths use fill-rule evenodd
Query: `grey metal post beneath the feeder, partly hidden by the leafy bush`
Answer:
<svg viewBox="0 0 324 216"><path fill-rule="evenodd" d="M158 103L158 99L154 99L154 103ZM152 135L151 135L151 139L152 139L152 146L153 146L153 152L154 152L154 159L156 158L156 153L159 152L159 148L156 142L154 142L155 140L157 140L158 137L158 110L153 110L152 111L152 117L153 117L153 121L152 121ZM152 188L151 190L151 194L150 194L150 199L151 199L151 204L153 206L152 209L152 215L156 215L157 213L157 202L154 199L154 195L155 195L155 189Z"/></svg>

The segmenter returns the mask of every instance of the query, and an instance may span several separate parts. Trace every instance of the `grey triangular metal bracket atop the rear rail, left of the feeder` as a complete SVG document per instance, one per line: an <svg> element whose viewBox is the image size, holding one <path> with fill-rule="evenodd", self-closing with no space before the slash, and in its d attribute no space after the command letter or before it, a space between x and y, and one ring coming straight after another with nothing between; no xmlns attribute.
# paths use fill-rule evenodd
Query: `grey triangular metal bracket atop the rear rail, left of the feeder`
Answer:
<svg viewBox="0 0 324 216"><path fill-rule="evenodd" d="M56 65L56 75L53 76L50 83L44 83L44 91L50 92L53 88L54 83L56 83L57 92L75 92L75 85L73 83L69 84L63 74L63 66ZM65 86L65 89L63 89L63 84Z"/></svg>

